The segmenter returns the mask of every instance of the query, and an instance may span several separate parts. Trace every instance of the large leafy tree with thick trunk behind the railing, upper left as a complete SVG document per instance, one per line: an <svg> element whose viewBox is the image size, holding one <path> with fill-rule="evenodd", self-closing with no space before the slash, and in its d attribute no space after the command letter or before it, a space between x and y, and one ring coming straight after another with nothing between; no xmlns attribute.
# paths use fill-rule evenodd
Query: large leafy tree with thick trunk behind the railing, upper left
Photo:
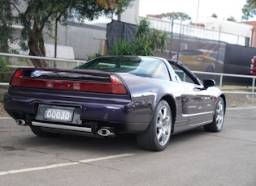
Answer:
<svg viewBox="0 0 256 186"><path fill-rule="evenodd" d="M52 31L56 22L66 23L68 17L98 19L100 15L113 15L127 8L133 0L23 0L10 1L15 9L14 19L23 26L22 49L31 56L46 56L43 32ZM51 32L50 32L51 34ZM47 67L45 60L32 59L33 65Z"/></svg>

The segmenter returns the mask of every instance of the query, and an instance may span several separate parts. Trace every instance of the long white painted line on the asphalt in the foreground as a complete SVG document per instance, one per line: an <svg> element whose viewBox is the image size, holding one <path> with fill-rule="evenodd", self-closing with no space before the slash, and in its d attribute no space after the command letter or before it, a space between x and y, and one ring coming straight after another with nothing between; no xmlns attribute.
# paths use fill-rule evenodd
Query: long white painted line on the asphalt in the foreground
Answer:
<svg viewBox="0 0 256 186"><path fill-rule="evenodd" d="M78 165L80 163L97 162L97 161L102 161L102 160L106 160L106 159L117 159L117 158L130 156L130 155L134 155L134 154L118 154L118 155L100 157L100 158L96 158L96 159L85 159L85 160L80 160L80 161L72 162L72 163L58 163L58 164L53 164L53 165L49 165L49 166L45 166L45 167L33 167L33 168L24 168L24 169L19 169L19 170L1 171L0 175L17 174L17 173L27 172L27 171L46 170L46 169L50 169L50 168Z"/></svg>

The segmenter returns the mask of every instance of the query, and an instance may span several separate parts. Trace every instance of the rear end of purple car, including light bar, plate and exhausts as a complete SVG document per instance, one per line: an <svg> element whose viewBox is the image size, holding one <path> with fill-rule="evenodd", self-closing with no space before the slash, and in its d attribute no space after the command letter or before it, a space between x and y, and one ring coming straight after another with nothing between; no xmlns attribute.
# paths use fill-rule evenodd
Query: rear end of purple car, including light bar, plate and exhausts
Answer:
<svg viewBox="0 0 256 186"><path fill-rule="evenodd" d="M131 114L124 79L96 70L16 70L4 107L18 125L59 132L109 136L146 127Z"/></svg>

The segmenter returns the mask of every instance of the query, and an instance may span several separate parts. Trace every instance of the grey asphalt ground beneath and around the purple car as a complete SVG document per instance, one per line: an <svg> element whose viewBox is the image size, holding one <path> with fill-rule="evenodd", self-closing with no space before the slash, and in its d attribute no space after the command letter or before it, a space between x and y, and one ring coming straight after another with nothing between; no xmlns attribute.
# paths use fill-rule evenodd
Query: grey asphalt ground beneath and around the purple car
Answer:
<svg viewBox="0 0 256 186"><path fill-rule="evenodd" d="M0 118L0 185L256 185L256 108L228 109L223 130L171 137L162 152L132 136L36 137Z"/></svg>

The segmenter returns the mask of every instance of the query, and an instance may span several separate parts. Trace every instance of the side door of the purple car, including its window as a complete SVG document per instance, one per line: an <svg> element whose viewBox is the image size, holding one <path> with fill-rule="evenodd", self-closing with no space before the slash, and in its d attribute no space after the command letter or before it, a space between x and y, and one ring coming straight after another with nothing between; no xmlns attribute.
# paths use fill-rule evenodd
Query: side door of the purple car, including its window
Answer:
<svg viewBox="0 0 256 186"><path fill-rule="evenodd" d="M210 94L199 79L180 63L171 64L177 81L183 84L184 92L181 95L182 115L187 117L189 126L209 123L214 115L215 97Z"/></svg>

